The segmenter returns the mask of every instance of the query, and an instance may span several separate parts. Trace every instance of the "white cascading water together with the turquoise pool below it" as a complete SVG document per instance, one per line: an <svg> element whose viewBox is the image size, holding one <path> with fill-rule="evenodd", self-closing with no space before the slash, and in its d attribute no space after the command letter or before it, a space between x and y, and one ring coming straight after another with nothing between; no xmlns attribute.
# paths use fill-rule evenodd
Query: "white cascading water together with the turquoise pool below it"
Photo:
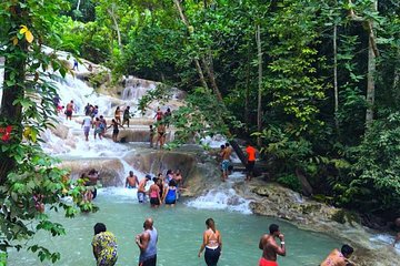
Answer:
<svg viewBox="0 0 400 266"><path fill-rule="evenodd" d="M0 72L0 81L2 75ZM127 83L128 89L122 93L122 100L98 94L92 88L72 75L67 75L64 81L53 82L58 88L62 104L66 105L70 100L73 100L78 115L83 114L83 108L88 102L99 105L99 114L103 114L108 119L113 115L117 105L131 105L134 112L134 103L142 95L142 92L139 91L133 93L133 85L129 82ZM151 90L151 85L140 86ZM171 104L170 106L177 105ZM152 119L156 108L157 104L144 117L141 117ZM86 142L79 119L66 121L63 114L60 114L59 121L66 127L67 137L57 136L50 130L46 131L43 134L46 143L42 146L49 154L71 164L100 160L102 160L101 162L104 160L116 162L116 164L120 165L116 170L114 176L119 184L123 184L124 177L131 170L138 175L139 180L144 177L146 173L134 168L132 164L126 161L126 155L134 153L136 146L129 143L113 143L109 139L93 140L92 135L90 141ZM206 141L211 146L219 146L224 143L222 139L218 140L219 142L216 142L216 140ZM146 172L150 171L158 170L154 166L154 168L150 167ZM219 180L219 176L216 178ZM280 259L282 265L317 265L330 249L340 245L340 243L328 236L299 231L282 221L242 215L251 213L249 208L250 201L237 195L232 188L233 184L242 181L242 174L233 173L229 176L228 182L217 185L198 198L187 201L186 204L178 203L173 209L161 207L154 211L148 206L141 206L138 204L136 190L127 190L121 186L100 188L96 200L96 204L100 206L100 212L79 215L74 219L64 219L60 214L47 211L56 222L66 226L68 234L59 238L49 238L46 234L39 234L33 242L46 246L57 246L57 249L62 255L57 265L93 265L90 247L92 226L97 222L103 222L108 229L116 234L119 243L119 260L117 265L132 265L138 259L134 234L140 232L144 217L152 216L156 221L156 227L160 232L158 264L160 266L198 266L203 264L202 258L197 258L196 254L201 244L201 233L208 217L216 219L217 226L222 233L224 249L220 265L224 266L256 265L260 256L258 249L259 237L267 232L268 225L272 222L279 223L282 232L287 235L290 256ZM232 212L220 212L221 209ZM307 243L303 242L306 238L308 239ZM307 250L306 255L303 255L304 250ZM34 255L24 252L11 253L9 263L10 265L44 265L38 262Z"/></svg>

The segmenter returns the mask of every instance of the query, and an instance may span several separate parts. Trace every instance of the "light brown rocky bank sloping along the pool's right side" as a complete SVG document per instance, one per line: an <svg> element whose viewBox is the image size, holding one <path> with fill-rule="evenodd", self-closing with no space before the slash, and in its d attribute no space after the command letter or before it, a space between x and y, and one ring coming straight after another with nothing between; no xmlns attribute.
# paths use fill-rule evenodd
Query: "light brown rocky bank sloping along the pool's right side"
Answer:
<svg viewBox="0 0 400 266"><path fill-rule="evenodd" d="M250 183L237 183L236 191L252 200L254 214L279 217L307 231L324 233L354 247L352 260L358 266L396 266L399 254L390 245L371 243L373 232L361 226L358 215L341 208L301 196L276 183L256 178Z"/></svg>

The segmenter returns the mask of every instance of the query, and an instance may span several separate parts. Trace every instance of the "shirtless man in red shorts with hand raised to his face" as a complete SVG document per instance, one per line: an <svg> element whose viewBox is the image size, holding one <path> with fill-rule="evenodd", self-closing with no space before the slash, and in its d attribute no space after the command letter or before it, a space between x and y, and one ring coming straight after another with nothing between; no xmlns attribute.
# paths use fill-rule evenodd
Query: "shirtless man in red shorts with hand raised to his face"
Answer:
<svg viewBox="0 0 400 266"><path fill-rule="evenodd" d="M277 255L286 256L284 236L280 233L279 226L271 224L269 227L270 234L261 236L259 248L262 249L262 257L259 260L259 266L278 266ZM280 239L280 246L276 238Z"/></svg>

